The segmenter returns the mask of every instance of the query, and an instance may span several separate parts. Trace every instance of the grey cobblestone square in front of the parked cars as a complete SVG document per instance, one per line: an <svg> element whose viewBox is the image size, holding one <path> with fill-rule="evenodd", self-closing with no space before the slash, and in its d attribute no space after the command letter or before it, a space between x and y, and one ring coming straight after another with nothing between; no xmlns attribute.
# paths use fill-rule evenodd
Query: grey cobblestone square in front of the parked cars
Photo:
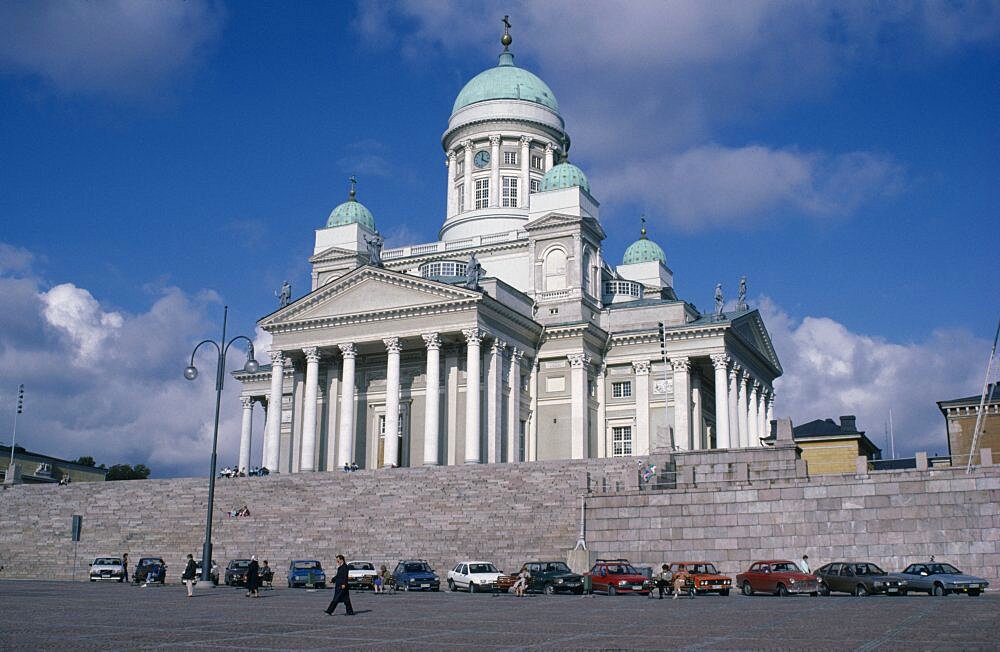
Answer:
<svg viewBox="0 0 1000 652"><path fill-rule="evenodd" d="M0 649L996 650L1000 594L852 598L352 594L0 581Z"/></svg>

